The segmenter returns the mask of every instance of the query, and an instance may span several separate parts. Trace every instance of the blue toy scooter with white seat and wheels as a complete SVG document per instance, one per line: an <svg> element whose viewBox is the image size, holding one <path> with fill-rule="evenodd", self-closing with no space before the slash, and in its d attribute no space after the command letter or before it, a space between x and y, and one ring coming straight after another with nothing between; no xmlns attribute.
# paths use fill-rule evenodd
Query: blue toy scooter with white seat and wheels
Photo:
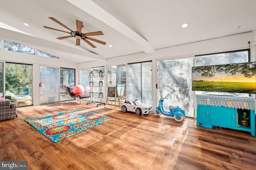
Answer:
<svg viewBox="0 0 256 170"><path fill-rule="evenodd" d="M177 122L181 122L185 116L185 110L181 109L179 106L170 106L170 112L164 111L164 106L163 106L163 102L164 99L168 99L168 95L166 95L166 97L162 97L159 100L158 103L158 107L156 107L156 115L166 115L166 116L170 116L170 117L174 117L174 119Z"/></svg>

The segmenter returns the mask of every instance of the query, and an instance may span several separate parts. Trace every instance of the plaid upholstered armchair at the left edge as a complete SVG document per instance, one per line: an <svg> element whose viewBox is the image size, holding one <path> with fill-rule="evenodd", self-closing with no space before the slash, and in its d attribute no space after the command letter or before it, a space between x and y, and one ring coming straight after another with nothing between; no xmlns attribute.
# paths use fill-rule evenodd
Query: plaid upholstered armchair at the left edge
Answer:
<svg viewBox="0 0 256 170"><path fill-rule="evenodd" d="M9 99L0 101L0 121L14 119L17 116L17 107L18 105L16 103L12 103Z"/></svg>

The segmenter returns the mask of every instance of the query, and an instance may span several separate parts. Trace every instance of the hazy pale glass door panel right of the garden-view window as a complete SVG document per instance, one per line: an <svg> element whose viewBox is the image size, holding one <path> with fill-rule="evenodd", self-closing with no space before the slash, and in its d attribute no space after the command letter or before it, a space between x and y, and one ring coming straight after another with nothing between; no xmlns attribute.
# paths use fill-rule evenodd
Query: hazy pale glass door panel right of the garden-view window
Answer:
<svg viewBox="0 0 256 170"><path fill-rule="evenodd" d="M59 69L55 67L40 67L40 104L59 101Z"/></svg>

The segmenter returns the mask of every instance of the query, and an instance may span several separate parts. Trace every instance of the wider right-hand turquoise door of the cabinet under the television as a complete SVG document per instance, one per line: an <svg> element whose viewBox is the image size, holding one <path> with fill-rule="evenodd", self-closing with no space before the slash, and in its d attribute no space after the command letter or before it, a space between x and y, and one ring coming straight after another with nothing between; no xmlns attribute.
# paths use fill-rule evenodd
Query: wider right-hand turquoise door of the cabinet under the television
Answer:
<svg viewBox="0 0 256 170"><path fill-rule="evenodd" d="M228 108L228 107L210 107L210 115L211 122L216 126L224 126L224 127L235 127L236 125L236 109Z"/></svg>

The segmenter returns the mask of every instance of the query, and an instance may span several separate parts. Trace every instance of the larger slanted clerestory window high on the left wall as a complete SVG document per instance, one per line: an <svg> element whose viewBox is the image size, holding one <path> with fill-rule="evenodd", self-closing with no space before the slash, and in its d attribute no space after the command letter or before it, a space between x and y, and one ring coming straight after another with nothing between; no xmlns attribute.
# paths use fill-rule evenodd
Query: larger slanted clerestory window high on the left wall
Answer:
<svg viewBox="0 0 256 170"><path fill-rule="evenodd" d="M35 49L19 43L9 42L5 40L4 40L4 50L35 55Z"/></svg>

